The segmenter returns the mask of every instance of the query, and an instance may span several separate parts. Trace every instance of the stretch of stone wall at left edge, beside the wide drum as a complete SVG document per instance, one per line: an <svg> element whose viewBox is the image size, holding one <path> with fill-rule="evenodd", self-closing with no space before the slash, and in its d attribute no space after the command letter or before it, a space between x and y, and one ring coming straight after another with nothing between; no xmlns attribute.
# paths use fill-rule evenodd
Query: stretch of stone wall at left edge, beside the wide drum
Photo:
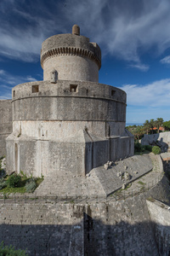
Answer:
<svg viewBox="0 0 170 256"><path fill-rule="evenodd" d="M6 155L5 139L12 130L11 100L0 100L0 157Z"/></svg>

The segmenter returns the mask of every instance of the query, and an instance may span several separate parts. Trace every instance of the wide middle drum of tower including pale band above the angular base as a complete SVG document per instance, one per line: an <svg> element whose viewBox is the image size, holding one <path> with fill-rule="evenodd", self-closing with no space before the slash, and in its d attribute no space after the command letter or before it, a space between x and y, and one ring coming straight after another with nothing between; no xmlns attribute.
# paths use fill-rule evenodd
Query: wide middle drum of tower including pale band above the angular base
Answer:
<svg viewBox="0 0 170 256"><path fill-rule="evenodd" d="M77 91L71 91L72 85L77 86ZM32 92L34 86L38 87L38 92ZM60 125L60 131L57 131L57 124L54 130L48 130L47 138L54 140L72 136L80 127L84 129L85 126L89 133L104 138L121 136L124 131L126 93L113 86L80 81L58 81L57 84L41 81L19 84L14 87L13 95L14 130L17 123L34 121L32 125L40 122L48 125L48 120L51 121L50 125L53 125L53 121L63 123ZM68 123L70 129L63 129L63 125ZM38 137L39 134L31 129L25 131L20 125L18 132L32 137ZM50 132L54 132L54 135L50 135ZM42 137L42 134L39 136Z"/></svg>

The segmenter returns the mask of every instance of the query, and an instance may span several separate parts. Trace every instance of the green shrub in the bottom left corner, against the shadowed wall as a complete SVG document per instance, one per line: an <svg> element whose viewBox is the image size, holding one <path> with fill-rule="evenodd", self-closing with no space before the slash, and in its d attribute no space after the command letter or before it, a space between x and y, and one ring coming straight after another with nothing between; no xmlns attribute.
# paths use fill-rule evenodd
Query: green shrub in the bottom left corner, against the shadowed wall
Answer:
<svg viewBox="0 0 170 256"><path fill-rule="evenodd" d="M3 241L0 244L0 256L26 256L26 251L15 250L13 246L4 246Z"/></svg>

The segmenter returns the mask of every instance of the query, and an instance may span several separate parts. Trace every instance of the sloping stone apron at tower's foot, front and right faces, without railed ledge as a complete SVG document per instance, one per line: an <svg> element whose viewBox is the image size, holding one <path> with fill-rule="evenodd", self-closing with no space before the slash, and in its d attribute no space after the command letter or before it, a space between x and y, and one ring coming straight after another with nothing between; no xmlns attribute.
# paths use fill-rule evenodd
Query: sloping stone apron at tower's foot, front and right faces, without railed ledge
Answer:
<svg viewBox="0 0 170 256"><path fill-rule="evenodd" d="M129 186L126 189L126 194L131 193L132 190L140 191L154 186L161 178L160 160L159 156L152 153L134 155L117 161L116 165L108 170L105 170L104 166L99 166L93 169L87 177L72 176L70 172L52 172L45 177L34 195L105 198L106 195L111 195L118 189L122 189L123 183L127 183L127 187ZM128 172L131 179L125 182L117 177L117 172Z"/></svg>

